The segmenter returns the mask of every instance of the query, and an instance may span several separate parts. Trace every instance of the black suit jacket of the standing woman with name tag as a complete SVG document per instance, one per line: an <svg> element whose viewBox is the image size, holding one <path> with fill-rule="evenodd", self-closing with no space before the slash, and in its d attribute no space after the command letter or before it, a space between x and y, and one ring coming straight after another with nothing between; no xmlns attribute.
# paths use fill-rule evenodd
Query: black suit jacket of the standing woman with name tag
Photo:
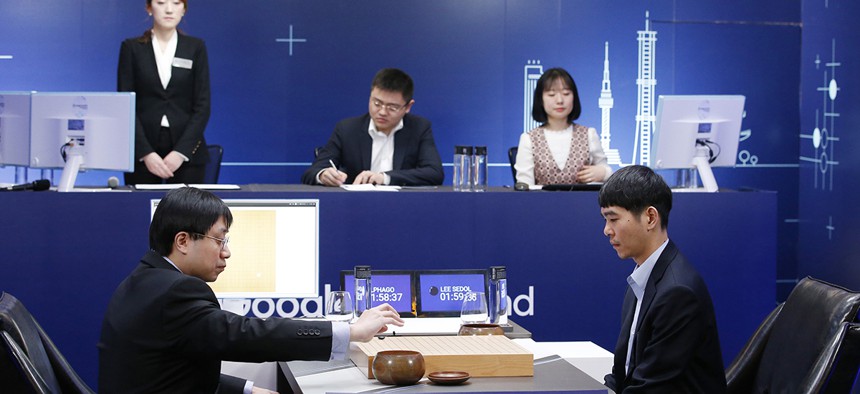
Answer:
<svg viewBox="0 0 860 394"><path fill-rule="evenodd" d="M203 138L210 104L206 45L198 38L177 34L174 59L190 60L191 66L178 66L174 61L167 89L158 77L152 41L129 38L120 47L117 91L137 93L135 160L155 152L153 146L163 115L167 115L170 122L173 150L188 157L193 164L203 164L209 158Z"/></svg>

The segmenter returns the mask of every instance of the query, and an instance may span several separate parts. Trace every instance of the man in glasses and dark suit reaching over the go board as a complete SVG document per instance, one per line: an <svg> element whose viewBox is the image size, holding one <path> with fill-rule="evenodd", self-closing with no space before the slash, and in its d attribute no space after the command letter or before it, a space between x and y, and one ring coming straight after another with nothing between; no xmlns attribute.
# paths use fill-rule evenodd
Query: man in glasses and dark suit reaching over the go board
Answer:
<svg viewBox="0 0 860 394"><path fill-rule="evenodd" d="M150 250L119 284L102 322L99 393L264 393L221 375L221 361L345 359L350 341L403 325L388 304L353 324L257 319L223 311L206 282L227 268L230 209L214 194L174 189L159 202Z"/></svg>

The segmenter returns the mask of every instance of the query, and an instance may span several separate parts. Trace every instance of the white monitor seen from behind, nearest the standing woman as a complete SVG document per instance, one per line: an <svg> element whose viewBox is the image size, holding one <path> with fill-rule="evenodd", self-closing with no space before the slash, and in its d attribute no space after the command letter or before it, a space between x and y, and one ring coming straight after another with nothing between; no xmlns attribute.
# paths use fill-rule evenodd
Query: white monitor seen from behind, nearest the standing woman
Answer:
<svg viewBox="0 0 860 394"><path fill-rule="evenodd" d="M78 171L134 171L135 94L33 93L30 167L62 168L58 191L71 191Z"/></svg>

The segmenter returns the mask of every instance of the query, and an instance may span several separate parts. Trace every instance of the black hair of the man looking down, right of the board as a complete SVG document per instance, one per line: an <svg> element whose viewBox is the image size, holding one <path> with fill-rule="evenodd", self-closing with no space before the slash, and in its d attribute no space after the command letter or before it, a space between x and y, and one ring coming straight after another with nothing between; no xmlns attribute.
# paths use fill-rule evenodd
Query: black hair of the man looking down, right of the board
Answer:
<svg viewBox="0 0 860 394"><path fill-rule="evenodd" d="M634 215L654 207L660 214L660 227L665 230L669 226L672 189L648 167L633 165L618 170L600 188L597 201L601 208L621 207Z"/></svg>

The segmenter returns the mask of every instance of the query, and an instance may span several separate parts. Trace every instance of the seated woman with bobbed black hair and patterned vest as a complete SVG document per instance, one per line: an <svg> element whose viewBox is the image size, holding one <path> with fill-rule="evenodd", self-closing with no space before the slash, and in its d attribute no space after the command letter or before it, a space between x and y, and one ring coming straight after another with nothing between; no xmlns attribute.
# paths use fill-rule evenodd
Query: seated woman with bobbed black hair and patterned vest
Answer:
<svg viewBox="0 0 860 394"><path fill-rule="evenodd" d="M542 123L520 136L517 182L559 185L603 182L612 174L593 127L573 123L582 106L573 77L547 70L535 87L532 117Z"/></svg>

